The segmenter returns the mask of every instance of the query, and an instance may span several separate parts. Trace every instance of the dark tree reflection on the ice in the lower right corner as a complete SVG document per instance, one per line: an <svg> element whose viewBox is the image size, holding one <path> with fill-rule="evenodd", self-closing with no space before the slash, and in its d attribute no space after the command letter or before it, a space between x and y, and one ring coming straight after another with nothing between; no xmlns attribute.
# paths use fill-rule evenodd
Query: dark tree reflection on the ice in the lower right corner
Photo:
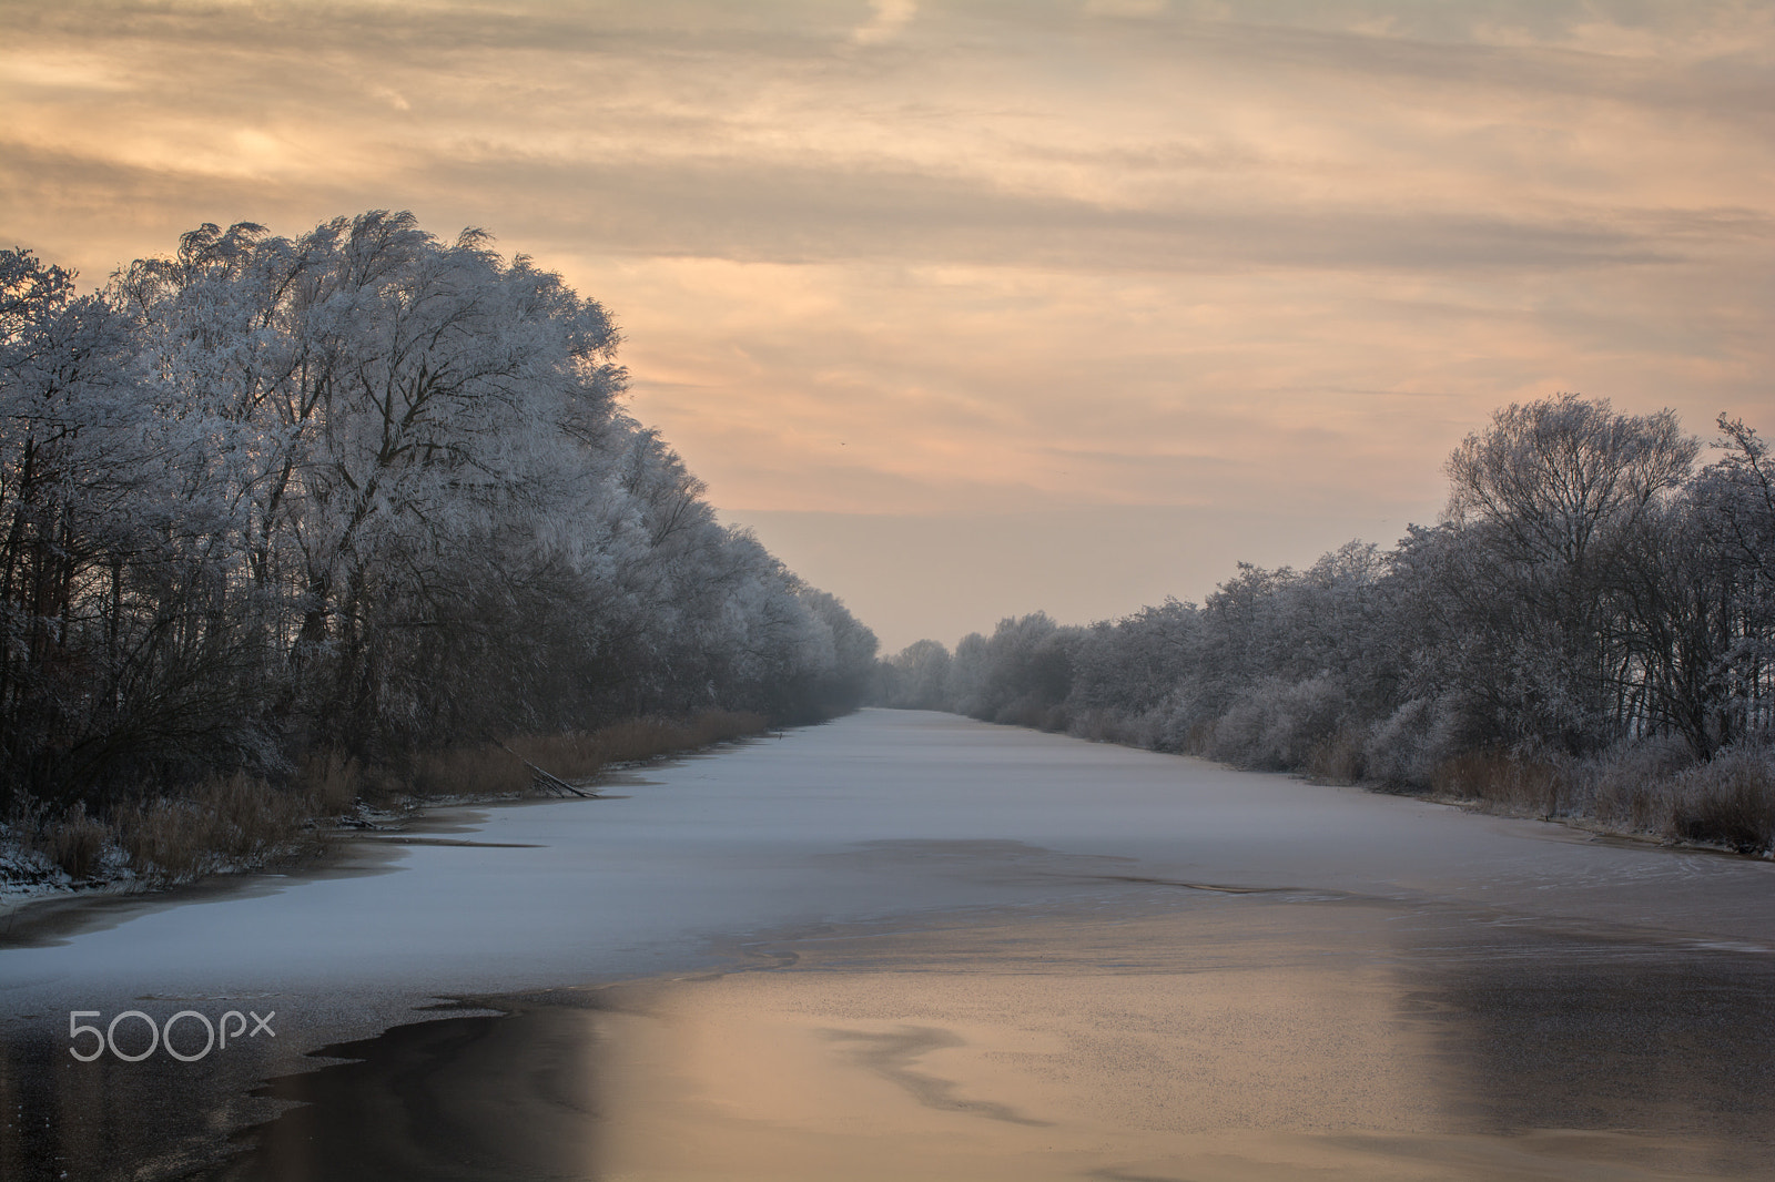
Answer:
<svg viewBox="0 0 1775 1182"><path fill-rule="evenodd" d="M1697 1173L1775 1177L1775 957L1523 930L1400 965L1448 1116L1493 1134L1693 1139Z"/></svg>

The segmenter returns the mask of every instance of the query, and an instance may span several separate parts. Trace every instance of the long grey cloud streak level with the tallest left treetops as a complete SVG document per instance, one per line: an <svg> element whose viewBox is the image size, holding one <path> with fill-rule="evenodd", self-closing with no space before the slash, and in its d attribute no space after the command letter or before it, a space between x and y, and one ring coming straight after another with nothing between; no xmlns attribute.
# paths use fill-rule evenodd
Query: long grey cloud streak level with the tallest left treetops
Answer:
<svg viewBox="0 0 1775 1182"><path fill-rule="evenodd" d="M1681 261L1693 234L1766 241L1755 209L1683 211L1434 208L1427 202L1299 206L1246 195L1116 209L1054 193L1006 192L969 176L818 162L431 160L421 188L493 201L579 193L559 229L612 252L744 261L902 259L971 264L1180 270L1381 268L1569 270Z"/></svg>

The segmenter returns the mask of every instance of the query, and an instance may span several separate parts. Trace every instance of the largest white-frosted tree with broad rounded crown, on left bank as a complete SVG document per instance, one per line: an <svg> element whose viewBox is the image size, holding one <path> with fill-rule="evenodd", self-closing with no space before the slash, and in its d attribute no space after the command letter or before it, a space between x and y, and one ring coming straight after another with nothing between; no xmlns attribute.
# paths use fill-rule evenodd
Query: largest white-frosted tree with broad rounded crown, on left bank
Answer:
<svg viewBox="0 0 1775 1182"><path fill-rule="evenodd" d="M604 309L483 234L380 211L296 241L204 225L117 296L167 415L213 444L222 545L254 586L300 587L280 657L325 666L321 722L362 738L412 715L396 637L476 598L495 554L545 557L577 435L611 419Z"/></svg>

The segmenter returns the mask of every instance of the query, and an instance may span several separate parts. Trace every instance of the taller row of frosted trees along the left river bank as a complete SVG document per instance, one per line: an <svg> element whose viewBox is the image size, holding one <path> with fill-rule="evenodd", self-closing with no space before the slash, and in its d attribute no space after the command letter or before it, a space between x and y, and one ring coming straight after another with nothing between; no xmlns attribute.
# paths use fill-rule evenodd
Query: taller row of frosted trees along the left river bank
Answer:
<svg viewBox="0 0 1775 1182"><path fill-rule="evenodd" d="M0 252L0 806L316 753L856 705L875 637L623 414L605 311L479 232Z"/></svg>

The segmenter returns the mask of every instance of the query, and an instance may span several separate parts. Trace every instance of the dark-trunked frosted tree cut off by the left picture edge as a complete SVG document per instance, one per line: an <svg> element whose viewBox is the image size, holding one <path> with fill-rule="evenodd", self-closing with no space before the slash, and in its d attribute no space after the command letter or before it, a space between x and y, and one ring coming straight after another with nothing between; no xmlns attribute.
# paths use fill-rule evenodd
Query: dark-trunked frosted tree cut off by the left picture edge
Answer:
<svg viewBox="0 0 1775 1182"><path fill-rule="evenodd" d="M140 376L110 303L27 250L0 252L0 792L75 792L119 733L206 729L181 717L188 669L138 676L144 648L192 648L183 619L130 626L128 566L181 577L163 563L178 529L169 440Z"/></svg>

